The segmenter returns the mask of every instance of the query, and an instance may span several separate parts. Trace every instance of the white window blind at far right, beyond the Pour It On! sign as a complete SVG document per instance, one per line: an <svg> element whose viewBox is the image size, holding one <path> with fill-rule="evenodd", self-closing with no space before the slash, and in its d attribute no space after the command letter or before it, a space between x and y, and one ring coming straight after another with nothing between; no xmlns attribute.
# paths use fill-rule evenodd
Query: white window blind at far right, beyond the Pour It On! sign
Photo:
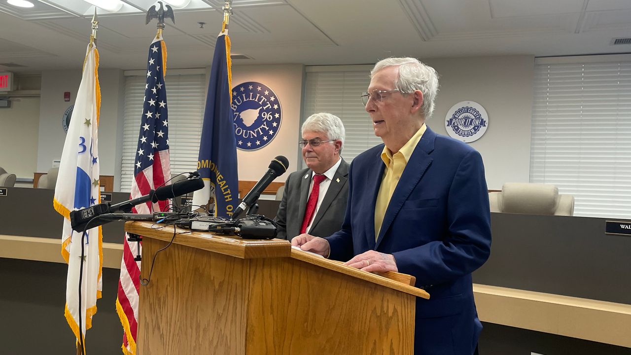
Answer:
<svg viewBox="0 0 631 355"><path fill-rule="evenodd" d="M534 75L531 183L574 195L575 215L631 218L631 61Z"/></svg>

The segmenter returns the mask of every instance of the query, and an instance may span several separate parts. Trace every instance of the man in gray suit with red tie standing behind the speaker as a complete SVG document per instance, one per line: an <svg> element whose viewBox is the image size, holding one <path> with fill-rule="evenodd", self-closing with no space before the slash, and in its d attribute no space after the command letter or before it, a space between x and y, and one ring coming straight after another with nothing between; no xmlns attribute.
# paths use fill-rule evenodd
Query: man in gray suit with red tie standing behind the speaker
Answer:
<svg viewBox="0 0 631 355"><path fill-rule="evenodd" d="M292 172L285 182L274 219L276 238L292 240L305 232L327 237L339 231L348 198L348 163L339 156L344 138L344 125L332 114L312 114L302 124L298 143L307 169Z"/></svg>

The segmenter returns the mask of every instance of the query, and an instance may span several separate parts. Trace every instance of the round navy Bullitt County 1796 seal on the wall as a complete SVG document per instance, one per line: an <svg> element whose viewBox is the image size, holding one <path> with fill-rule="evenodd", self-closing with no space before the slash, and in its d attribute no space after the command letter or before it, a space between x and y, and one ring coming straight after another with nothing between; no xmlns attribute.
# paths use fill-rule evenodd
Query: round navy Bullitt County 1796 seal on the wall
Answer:
<svg viewBox="0 0 631 355"><path fill-rule="evenodd" d="M257 150L265 147L280 129L280 100L271 88L256 81L232 88L232 111L237 148Z"/></svg>

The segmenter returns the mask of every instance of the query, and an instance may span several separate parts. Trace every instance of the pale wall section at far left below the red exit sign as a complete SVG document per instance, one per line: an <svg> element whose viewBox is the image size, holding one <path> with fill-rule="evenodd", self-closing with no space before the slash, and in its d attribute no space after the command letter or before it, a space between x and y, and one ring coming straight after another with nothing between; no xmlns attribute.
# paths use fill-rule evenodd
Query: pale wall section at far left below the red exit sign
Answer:
<svg viewBox="0 0 631 355"><path fill-rule="evenodd" d="M33 178L39 116L39 97L11 99L11 107L0 109L0 167L18 178Z"/></svg>

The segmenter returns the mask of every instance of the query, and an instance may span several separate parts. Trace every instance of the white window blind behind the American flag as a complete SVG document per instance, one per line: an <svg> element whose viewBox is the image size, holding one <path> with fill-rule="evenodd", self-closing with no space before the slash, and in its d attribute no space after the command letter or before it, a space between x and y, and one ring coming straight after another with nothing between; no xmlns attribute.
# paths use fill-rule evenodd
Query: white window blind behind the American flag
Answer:
<svg viewBox="0 0 631 355"><path fill-rule="evenodd" d="M199 138L206 102L206 76L168 75L165 78L168 105L168 140L171 173L197 169ZM138 147L146 76L126 76L121 162L121 191L130 191Z"/></svg>

